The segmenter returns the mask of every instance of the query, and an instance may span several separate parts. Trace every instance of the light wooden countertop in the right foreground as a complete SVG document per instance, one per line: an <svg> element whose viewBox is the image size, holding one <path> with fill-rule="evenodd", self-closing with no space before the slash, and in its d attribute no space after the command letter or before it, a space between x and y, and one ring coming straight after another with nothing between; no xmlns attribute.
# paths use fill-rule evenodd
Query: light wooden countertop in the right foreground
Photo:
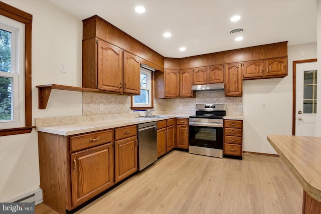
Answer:
<svg viewBox="0 0 321 214"><path fill-rule="evenodd" d="M321 137L267 135L267 140L303 189L321 201Z"/></svg>

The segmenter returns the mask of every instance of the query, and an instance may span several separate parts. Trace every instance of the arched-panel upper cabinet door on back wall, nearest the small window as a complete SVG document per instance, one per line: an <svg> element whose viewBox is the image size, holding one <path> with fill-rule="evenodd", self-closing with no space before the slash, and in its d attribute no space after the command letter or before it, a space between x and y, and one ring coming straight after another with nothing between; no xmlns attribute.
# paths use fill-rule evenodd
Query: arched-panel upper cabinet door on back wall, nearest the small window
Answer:
<svg viewBox="0 0 321 214"><path fill-rule="evenodd" d="M179 97L179 70L165 69L165 96Z"/></svg>

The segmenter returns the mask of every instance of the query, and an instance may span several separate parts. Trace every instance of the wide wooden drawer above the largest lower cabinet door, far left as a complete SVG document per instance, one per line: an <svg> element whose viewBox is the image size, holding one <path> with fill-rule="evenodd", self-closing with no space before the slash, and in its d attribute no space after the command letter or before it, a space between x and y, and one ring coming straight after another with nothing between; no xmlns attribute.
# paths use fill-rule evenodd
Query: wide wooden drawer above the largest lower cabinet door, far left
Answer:
<svg viewBox="0 0 321 214"><path fill-rule="evenodd" d="M112 141L113 132L111 129L90 134L78 135L70 137L70 150L71 152L78 151Z"/></svg>

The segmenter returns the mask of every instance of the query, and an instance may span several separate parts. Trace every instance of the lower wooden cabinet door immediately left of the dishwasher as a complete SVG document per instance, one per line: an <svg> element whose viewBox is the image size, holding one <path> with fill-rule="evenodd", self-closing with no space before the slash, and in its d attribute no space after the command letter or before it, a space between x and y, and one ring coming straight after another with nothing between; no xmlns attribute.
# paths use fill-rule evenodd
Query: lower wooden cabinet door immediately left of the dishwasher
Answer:
<svg viewBox="0 0 321 214"><path fill-rule="evenodd" d="M137 171L137 137L115 141L115 181Z"/></svg>

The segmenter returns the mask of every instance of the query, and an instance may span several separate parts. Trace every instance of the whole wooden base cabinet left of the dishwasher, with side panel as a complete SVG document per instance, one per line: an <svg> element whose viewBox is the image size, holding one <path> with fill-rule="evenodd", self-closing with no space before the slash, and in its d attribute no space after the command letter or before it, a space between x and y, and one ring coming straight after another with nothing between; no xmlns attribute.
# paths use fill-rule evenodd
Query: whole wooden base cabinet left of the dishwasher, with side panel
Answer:
<svg viewBox="0 0 321 214"><path fill-rule="evenodd" d="M66 213L137 171L136 127L73 136L38 131L43 202Z"/></svg>

